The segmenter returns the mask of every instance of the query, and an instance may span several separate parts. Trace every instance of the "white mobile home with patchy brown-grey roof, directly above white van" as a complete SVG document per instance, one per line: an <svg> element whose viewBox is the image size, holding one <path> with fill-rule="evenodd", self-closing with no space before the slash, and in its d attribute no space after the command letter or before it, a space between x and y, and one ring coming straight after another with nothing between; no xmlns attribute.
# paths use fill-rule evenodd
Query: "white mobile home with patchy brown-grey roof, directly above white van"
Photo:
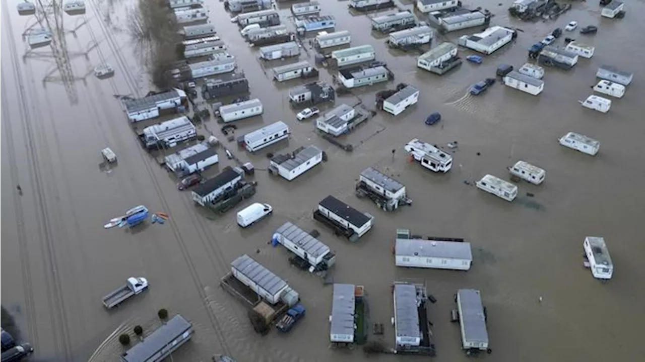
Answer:
<svg viewBox="0 0 645 362"><path fill-rule="evenodd" d="M292 181L321 162L323 162L323 151L316 146L308 146L286 155L273 156L269 162L269 168Z"/></svg>

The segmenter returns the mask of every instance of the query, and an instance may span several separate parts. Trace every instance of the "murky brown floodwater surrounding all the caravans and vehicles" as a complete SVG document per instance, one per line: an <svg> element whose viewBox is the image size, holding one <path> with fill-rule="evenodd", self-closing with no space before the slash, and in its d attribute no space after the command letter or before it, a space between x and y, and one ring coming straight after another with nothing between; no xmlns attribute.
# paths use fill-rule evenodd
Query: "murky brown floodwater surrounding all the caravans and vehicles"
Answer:
<svg viewBox="0 0 645 362"><path fill-rule="evenodd" d="M413 54L386 50L385 38L370 33L367 15L350 15L343 1L323 2L323 14L336 17L337 30L350 30L353 45L375 45L377 59L387 62L396 75L395 82L360 89L355 92L358 97L341 97L337 104L362 100L372 107L375 91L398 82L421 90L422 100L399 117L379 113L350 135L355 144L350 154L317 137L311 122L295 121L283 90L299 81L275 86L228 21L223 4L207 1L219 36L251 82L252 96L264 103L263 117L237 122L240 131L276 120L284 120L293 131L288 143L258 155L227 145L259 169L255 175L259 190L252 201L267 202L275 210L244 231L235 224L234 211L206 218L189 193L177 191L175 180L137 143L114 97L141 97L150 90L128 35L126 14L133 5L88 0L85 15L64 14L58 21L50 15L52 28L62 22L68 31L57 35L54 46L26 52L21 34L35 19L19 16L16 3L3 2L0 7L0 44L5 49L0 55L0 110L6 146L0 157L0 168L5 170L0 173L5 186L0 190L4 215L0 303L12 314L21 338L34 345L34 360L116 361L123 351L116 337L137 324L152 330L160 308L182 314L197 330L194 341L174 354L175 361L206 361L215 353L244 362L363 359L360 350L328 347L332 288L290 267L286 252L268 245L272 232L288 220L321 231L321 240L337 254L335 281L364 285L370 321L386 325L384 336L370 339L390 347L390 287L395 280L414 278L425 280L438 300L429 309L438 361L466 360L459 328L450 323L453 294L464 287L480 289L488 307L493 353L482 357L489 361L630 361L645 352L638 337L645 323L645 293L638 287L645 277L638 266L645 251L639 241L645 202L639 182L645 175L640 156L645 152L645 124L638 100L644 91L640 45L645 23L637 16L645 11L642 2L628 3L624 19L601 18L593 1L574 3L573 10L557 21L523 23L508 19L510 1L503 5L466 1L466 6L490 9L496 15L492 24L523 31L516 43L486 57L483 64L464 63L443 77L417 69ZM412 2L403 6L411 8ZM292 24L288 6L281 5L281 12L283 22ZM574 36L596 47L592 59L581 58L571 71L548 69L545 90L537 97L499 84L481 97L466 95L470 84L493 75L496 64L520 66L530 44L571 19L581 26L599 26L595 36ZM447 38L454 41L462 33L477 31L450 33ZM313 63L313 52L303 53L301 59ZM101 62L115 66L114 78L98 81L87 76ZM591 94L595 71L604 63L635 71L625 97L613 100L605 115L577 102ZM331 77L323 70L321 79ZM423 120L432 111L440 111L443 120L428 128ZM223 139L219 126L214 121L208 124ZM588 157L559 146L557 138L568 131L599 139L599 155ZM402 147L415 137L440 145L457 140L452 171L440 175L406 162ZM270 178L263 171L266 152L308 144L323 148L328 162L293 182ZM99 150L105 146L119 157L118 166L110 170L99 167ZM228 164L223 152L220 156L221 164L210 173ZM519 159L543 167L548 176L539 187L521 182L513 203L464 183L486 173L508 179L506 167ZM355 198L355 179L368 166L406 184L412 207L386 214ZM18 184L22 196L16 192ZM312 209L327 195L375 215L373 230L361 242L350 245L312 221ZM138 204L169 213L170 222L132 233L103 229L106 220ZM470 240L475 249L473 268L396 269L391 247L397 228ZM582 267L582 241L589 235L608 241L616 265L608 283L593 279ZM243 253L300 292L308 315L292 334L257 336L243 307L218 287L229 263ZM128 276L146 276L150 290L107 312L101 297Z"/></svg>

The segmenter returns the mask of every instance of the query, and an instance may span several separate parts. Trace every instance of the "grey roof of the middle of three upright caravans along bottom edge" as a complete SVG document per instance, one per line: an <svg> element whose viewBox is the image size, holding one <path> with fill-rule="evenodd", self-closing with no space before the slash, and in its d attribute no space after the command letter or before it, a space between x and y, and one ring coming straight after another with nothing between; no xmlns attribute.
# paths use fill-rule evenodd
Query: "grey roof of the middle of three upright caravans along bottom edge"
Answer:
<svg viewBox="0 0 645 362"><path fill-rule="evenodd" d="M394 299L396 300L396 309L394 310L396 336L421 338L417 288L412 284L395 284Z"/></svg>

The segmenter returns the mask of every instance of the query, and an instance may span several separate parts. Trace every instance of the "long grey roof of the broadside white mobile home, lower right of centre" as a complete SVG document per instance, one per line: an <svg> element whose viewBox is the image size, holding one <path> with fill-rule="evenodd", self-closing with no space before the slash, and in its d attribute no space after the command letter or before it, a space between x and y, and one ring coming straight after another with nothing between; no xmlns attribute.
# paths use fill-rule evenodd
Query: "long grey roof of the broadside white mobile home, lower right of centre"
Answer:
<svg viewBox="0 0 645 362"><path fill-rule="evenodd" d="M468 242L447 242L441 240L397 239L397 256L421 256L428 258L452 258L473 260L473 252Z"/></svg>

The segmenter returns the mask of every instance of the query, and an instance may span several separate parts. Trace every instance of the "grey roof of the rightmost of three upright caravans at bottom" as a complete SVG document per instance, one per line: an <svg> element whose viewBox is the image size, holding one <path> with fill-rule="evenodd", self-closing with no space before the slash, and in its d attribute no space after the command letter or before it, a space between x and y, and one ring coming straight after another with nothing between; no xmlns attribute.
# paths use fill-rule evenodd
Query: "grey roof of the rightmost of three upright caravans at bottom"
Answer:
<svg viewBox="0 0 645 362"><path fill-rule="evenodd" d="M461 303L461 323L464 326L464 339L468 342L488 343L488 330L484 306L479 291L476 289L459 289L459 302Z"/></svg>

